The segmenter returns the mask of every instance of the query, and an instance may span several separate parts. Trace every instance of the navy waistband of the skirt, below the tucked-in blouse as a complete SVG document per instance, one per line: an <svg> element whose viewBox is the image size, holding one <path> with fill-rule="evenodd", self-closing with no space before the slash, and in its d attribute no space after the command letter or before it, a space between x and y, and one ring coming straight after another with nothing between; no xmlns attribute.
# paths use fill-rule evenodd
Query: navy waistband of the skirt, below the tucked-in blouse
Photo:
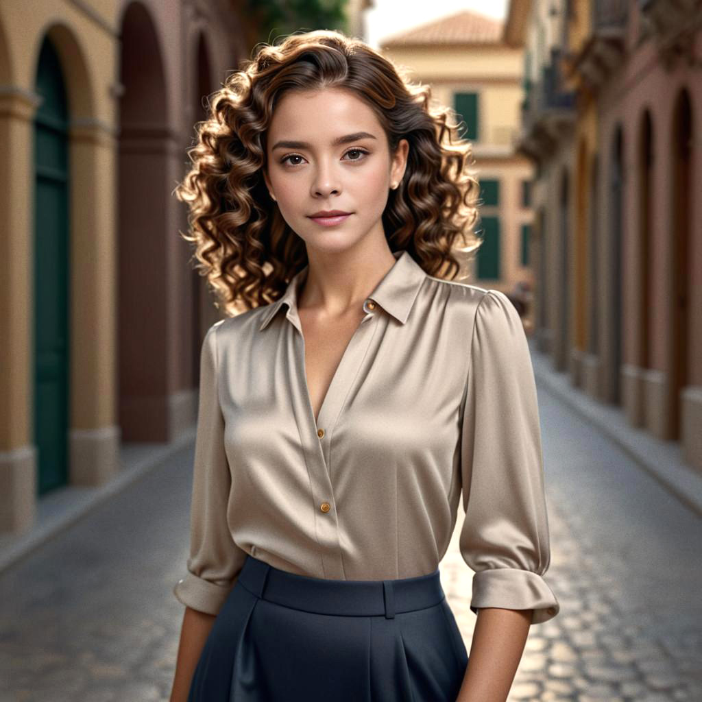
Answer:
<svg viewBox="0 0 702 702"><path fill-rule="evenodd" d="M439 569L395 580L326 580L289 573L246 555L237 582L256 597L314 614L380 616L433 607L446 596Z"/></svg>

